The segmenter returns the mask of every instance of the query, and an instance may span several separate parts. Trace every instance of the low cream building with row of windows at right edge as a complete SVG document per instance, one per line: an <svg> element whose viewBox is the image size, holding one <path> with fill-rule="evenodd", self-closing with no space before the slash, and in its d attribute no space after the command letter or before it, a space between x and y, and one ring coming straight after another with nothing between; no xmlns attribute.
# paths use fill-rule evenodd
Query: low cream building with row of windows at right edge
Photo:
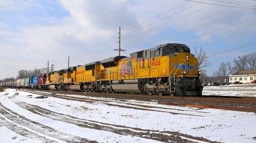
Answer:
<svg viewBox="0 0 256 143"><path fill-rule="evenodd" d="M256 70L236 71L229 76L229 82L242 82L249 84L252 80L256 80Z"/></svg>

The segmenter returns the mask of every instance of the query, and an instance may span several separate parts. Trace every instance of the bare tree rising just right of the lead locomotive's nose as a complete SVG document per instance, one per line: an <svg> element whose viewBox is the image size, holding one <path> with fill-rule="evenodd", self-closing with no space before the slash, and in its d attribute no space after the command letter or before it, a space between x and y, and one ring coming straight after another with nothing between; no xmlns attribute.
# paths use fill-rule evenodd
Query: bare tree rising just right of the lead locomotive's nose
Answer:
<svg viewBox="0 0 256 143"><path fill-rule="evenodd" d="M211 66L211 63L208 62L207 54L205 50L202 49L202 47L200 47L200 50L198 51L195 46L194 50L195 50L195 56L196 58L198 58L198 69L199 71L205 72L204 68Z"/></svg>

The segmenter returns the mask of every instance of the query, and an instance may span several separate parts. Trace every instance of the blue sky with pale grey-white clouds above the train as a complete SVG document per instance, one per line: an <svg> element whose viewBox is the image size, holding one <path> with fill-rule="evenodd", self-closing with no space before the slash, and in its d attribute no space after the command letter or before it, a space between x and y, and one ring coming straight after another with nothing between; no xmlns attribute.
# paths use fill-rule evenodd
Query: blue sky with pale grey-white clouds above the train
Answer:
<svg viewBox="0 0 256 143"><path fill-rule="evenodd" d="M256 1L0 0L0 79L20 70L54 70L159 44L201 48L211 67L256 52ZM231 51L230 51L231 50Z"/></svg>

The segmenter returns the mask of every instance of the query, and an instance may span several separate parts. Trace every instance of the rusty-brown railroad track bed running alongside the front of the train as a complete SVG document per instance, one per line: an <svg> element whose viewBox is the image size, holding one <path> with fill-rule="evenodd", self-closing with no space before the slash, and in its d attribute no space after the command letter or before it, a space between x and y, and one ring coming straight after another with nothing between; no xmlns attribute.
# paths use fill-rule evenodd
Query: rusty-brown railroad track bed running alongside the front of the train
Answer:
<svg viewBox="0 0 256 143"><path fill-rule="evenodd" d="M28 91L28 90L27 90ZM160 96L149 96L149 95L133 95L133 94L104 94L104 93L81 93L81 92L70 92L70 91L58 91L57 95L51 95L51 92L40 92L40 91L28 91L30 93L36 93L42 96L52 96L61 99L69 99L83 102L103 102L104 104L110 104L110 101L102 101L97 99L85 99L84 95L91 97L106 95L112 98L118 97L129 97L129 99L144 98L149 101L158 101L158 104L167 104L172 106L188 106L195 108L215 108L221 110L234 110L242 112L256 112L256 98L253 97L218 97L218 96L202 96L202 97L160 97ZM73 94L73 95L69 95ZM74 95L77 94L77 95ZM78 95L79 94L79 95ZM150 98L150 99L148 99ZM117 106L113 103L110 105ZM157 106L145 106L139 104L132 104L133 106L140 106L146 108L158 108ZM135 108L140 108L135 107ZM130 107L131 108L131 107ZM171 113L173 114L173 113Z"/></svg>

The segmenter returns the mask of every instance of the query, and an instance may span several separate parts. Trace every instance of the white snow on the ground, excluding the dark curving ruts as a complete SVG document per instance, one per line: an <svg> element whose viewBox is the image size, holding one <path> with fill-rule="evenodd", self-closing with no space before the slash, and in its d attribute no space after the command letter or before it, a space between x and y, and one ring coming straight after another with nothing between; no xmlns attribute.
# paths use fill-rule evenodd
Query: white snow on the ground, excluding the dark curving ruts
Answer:
<svg viewBox="0 0 256 143"><path fill-rule="evenodd" d="M203 95L206 95L206 93L209 95L216 95L217 93L222 95L226 94L224 91L221 91L222 93L215 91L215 89L218 88L224 89L229 87L205 87ZM89 140L96 140L97 142L157 141L140 138L137 136L123 136L108 131L82 128L71 123L33 114L29 110L26 110L25 108L22 108L14 103L11 96L16 92L18 92L19 95L15 98L22 102L37 105L41 108L52 110L54 112L68 114L77 118L98 121L100 123L110 123L114 125L123 125L125 127L136 127L139 129L150 129L156 131L177 131L179 133L192 136L202 136L208 140L218 142L256 142L256 114L253 112L199 109L167 106L157 104L156 102L118 101L116 99L105 99L108 102L112 101L112 104L123 106L133 106L128 103L137 103L142 105L156 106L156 108L161 107L161 109L158 108L156 110L160 110L162 112L157 112L152 111L154 108L151 108L152 110L148 111L135 108L109 106L108 104L100 102L84 103L79 101L56 99L54 97L36 99L35 97L38 95L26 93L24 91L15 91L15 89L6 89L5 92L0 93L1 104L12 111L17 112L18 114L25 116L32 121L52 127L57 131L70 133L75 136L81 136ZM240 91L240 88L237 88L236 91L233 90L232 92L233 95L245 95L245 93ZM247 94L250 96L255 96L255 92L256 91L248 91ZM9 95L5 95L5 93L9 93ZM88 98L90 99L92 97ZM95 97L94 99L99 98ZM104 98L100 98L100 100L104 100ZM1 119L0 131L1 142L37 142L37 140L26 138L12 132L10 129L7 129L7 127L3 126Z"/></svg>

